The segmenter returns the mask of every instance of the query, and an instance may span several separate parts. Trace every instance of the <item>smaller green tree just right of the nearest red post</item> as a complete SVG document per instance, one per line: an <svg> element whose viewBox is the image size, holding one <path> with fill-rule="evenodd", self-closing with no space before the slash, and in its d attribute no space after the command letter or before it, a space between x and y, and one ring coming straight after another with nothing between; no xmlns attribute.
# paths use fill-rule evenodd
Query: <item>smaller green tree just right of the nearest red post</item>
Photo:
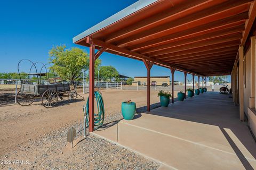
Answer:
<svg viewBox="0 0 256 170"><path fill-rule="evenodd" d="M100 80L101 81L111 81L112 78L115 80L118 78L119 73L115 67L109 66L101 66L100 67Z"/></svg>

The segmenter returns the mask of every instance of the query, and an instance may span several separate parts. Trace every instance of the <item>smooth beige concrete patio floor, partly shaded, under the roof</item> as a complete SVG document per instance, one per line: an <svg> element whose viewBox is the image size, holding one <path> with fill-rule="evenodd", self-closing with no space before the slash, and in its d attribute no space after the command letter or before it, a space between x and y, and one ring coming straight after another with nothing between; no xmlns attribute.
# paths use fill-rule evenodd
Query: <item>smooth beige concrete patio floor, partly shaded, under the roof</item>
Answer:
<svg viewBox="0 0 256 170"><path fill-rule="evenodd" d="M229 95L207 92L94 131L159 169L256 169L256 143ZM136 161L136 160L134 160Z"/></svg>

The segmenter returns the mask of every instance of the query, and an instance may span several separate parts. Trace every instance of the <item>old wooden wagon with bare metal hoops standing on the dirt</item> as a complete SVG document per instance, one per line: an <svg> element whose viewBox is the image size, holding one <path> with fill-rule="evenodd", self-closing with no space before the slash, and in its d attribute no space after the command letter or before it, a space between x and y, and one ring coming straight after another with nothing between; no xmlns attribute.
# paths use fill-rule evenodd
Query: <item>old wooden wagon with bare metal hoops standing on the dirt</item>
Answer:
<svg viewBox="0 0 256 170"><path fill-rule="evenodd" d="M68 83L63 83L63 81L57 83L56 81L56 77L55 77L55 73L53 70L53 74L54 74L54 83L50 84L49 82L49 77L48 77L48 72L46 69L46 64L43 64L40 74L37 73L37 68L35 66L35 64L39 63L32 63L32 66L30 67L29 70L29 81L25 81L23 83L22 79L21 79L21 75L20 75L20 71L19 71L19 65L22 61L29 61L30 60L21 60L18 63L18 73L19 73L19 77L20 77L20 81L21 81L21 86L20 86L20 91L17 93L17 103L21 106L29 106L31 105L36 98L41 98L41 103L44 107L46 108L50 108L53 107L57 104L58 102L58 98L62 99L62 96L67 95L68 97L68 101L72 101L74 99L77 98L77 92L75 89L70 89L70 86ZM35 67L36 70L36 74L31 74L31 69L32 67ZM45 67L45 74L46 75L46 83L47 84L42 84L42 69L43 67ZM37 75L37 84L33 84L31 83L31 75ZM38 75L40 77L40 80L38 78ZM78 95L80 96L80 95ZM82 97L82 96L80 96ZM83 97L82 97L83 98ZM83 98L84 99L84 98Z"/></svg>

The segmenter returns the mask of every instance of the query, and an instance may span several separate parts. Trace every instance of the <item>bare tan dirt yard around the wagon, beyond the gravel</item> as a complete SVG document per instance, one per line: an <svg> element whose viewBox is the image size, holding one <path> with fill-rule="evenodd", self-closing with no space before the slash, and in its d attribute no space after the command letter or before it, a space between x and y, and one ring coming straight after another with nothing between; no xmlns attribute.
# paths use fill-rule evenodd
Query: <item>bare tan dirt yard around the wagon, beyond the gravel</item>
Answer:
<svg viewBox="0 0 256 170"><path fill-rule="evenodd" d="M102 90L102 96L105 103L105 117L107 120L111 120L111 116L122 117L121 102L128 99L135 101L137 108L144 108L145 110L147 103L146 93L147 91L136 90ZM6 98L3 97L6 96L6 92L2 92L0 95L2 96L2 99ZM58 130L61 130L64 134L62 134L61 139L58 139L58 141L62 141L61 146L66 146L67 127L82 122L82 107L86 104L88 94L82 94L85 99L79 100L78 98L77 101L73 103L68 103L64 97L63 100L58 101L57 106L49 109L40 105L39 101L25 107L13 104L13 96L13 94L9 94L9 97L7 95L7 98L10 98L9 103L0 105L0 158L5 159L11 157L11 153L14 153L16 158L19 157L22 153L21 146L29 148L31 147L31 141L38 141L38 139L46 138L49 135L53 135ZM176 96L177 93L175 92L174 97ZM155 104L158 102L159 98L157 97L157 91L151 91L150 103ZM63 130L63 128L66 129ZM45 145L45 148L44 146L42 147L42 151L45 151L48 146ZM60 148L60 150L61 149L63 148ZM34 151L27 155L29 160L32 159L29 157L34 157L33 152Z"/></svg>

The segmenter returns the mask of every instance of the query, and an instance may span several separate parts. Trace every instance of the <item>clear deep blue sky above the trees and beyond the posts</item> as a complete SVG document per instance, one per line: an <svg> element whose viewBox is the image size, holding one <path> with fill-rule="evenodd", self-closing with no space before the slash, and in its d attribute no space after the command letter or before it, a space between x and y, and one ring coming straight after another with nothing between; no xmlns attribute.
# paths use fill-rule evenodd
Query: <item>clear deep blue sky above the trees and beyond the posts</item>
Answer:
<svg viewBox="0 0 256 170"><path fill-rule="evenodd" d="M52 46L77 46L72 38L109 16L133 4L129 1L1 1L0 3L0 72L17 72L23 59L47 63ZM87 50L87 47L77 46ZM102 65L113 65L129 77L146 76L145 65L136 60L103 53ZM26 71L29 65L23 65ZM21 70L22 70L21 69ZM154 65L152 76L171 75L169 69ZM192 79L191 75L187 77ZM175 72L174 80L183 81ZM230 81L230 77L228 77Z"/></svg>

